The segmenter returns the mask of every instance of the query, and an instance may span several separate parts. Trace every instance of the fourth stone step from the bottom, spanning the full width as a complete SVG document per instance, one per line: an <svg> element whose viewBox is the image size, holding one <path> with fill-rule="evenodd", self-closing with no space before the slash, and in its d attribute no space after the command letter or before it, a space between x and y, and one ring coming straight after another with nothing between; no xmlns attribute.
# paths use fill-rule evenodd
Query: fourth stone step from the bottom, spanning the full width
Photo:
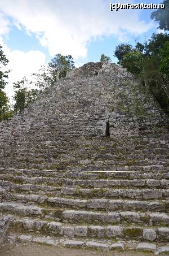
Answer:
<svg viewBox="0 0 169 256"><path fill-rule="evenodd" d="M47 197L39 194L22 194L6 193L3 190L3 196L1 196L1 202L13 201L22 203L37 203L38 205L50 205L50 206L66 206L78 209L105 209L109 211L123 210L123 211L158 211L169 212L169 202L166 200L129 200L129 199L83 199L77 198L54 198ZM104 203L103 203L104 202Z"/></svg>

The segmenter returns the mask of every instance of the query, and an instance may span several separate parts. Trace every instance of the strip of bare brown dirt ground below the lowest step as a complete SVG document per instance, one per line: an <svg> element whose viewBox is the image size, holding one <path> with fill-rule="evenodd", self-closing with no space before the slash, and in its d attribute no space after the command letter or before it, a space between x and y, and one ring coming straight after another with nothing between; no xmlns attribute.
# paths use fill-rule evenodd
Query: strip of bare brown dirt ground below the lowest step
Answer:
<svg viewBox="0 0 169 256"><path fill-rule="evenodd" d="M91 251L85 249L68 249L43 244L6 244L0 247L0 256L154 256L154 253L114 251ZM162 254L161 254L162 255Z"/></svg>

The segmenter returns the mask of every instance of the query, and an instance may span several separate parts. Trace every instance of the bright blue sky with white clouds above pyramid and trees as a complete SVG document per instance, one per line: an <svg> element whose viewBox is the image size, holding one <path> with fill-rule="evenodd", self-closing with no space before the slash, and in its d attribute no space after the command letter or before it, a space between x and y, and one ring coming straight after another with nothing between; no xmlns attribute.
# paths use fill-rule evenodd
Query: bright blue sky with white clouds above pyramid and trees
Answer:
<svg viewBox="0 0 169 256"><path fill-rule="evenodd" d="M75 66L98 62L102 53L112 58L115 46L144 42L158 24L153 10L110 11L109 0L0 0L0 45L11 70L6 92L14 95L12 83L39 70L55 54L72 55ZM158 0L117 1L161 3Z"/></svg>

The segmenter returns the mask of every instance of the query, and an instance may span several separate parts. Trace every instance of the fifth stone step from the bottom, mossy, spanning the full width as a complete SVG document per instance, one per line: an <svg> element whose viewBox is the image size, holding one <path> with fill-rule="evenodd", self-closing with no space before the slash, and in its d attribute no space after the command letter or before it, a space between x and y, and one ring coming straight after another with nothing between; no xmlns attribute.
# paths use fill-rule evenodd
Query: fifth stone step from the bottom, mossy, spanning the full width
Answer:
<svg viewBox="0 0 169 256"><path fill-rule="evenodd" d="M60 186L47 186L47 185L36 185L36 184L16 184L10 181L0 181L0 186L5 188L7 192L21 192L32 191L38 192L43 191L45 194L74 194L75 197L106 197L106 198L130 198L130 199L166 199L168 200L169 189L132 189L132 188L65 188Z"/></svg>

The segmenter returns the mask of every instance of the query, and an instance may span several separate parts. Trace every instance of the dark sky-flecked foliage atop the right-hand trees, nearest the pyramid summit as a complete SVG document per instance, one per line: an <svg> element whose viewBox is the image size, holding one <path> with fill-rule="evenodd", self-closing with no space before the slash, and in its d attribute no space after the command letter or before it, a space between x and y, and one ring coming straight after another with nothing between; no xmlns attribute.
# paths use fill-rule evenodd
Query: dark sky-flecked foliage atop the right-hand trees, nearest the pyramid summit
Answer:
<svg viewBox="0 0 169 256"><path fill-rule="evenodd" d="M114 57L118 58L118 64L122 63L124 55L131 53L132 46L130 44L121 44L116 46L114 51Z"/></svg>

